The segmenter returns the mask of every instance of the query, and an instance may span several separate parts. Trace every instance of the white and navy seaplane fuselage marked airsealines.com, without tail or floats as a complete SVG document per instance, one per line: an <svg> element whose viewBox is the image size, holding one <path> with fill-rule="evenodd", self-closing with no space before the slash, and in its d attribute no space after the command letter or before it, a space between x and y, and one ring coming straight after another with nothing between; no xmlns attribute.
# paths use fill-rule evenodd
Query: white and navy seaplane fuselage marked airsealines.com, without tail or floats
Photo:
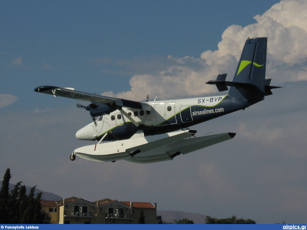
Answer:
<svg viewBox="0 0 307 230"><path fill-rule="evenodd" d="M123 140L142 130L145 136L172 132L244 109L248 103L228 95L146 102L152 111L122 108L104 114L76 133L80 140ZM126 113L126 114L125 114ZM128 119L133 119L135 125Z"/></svg>

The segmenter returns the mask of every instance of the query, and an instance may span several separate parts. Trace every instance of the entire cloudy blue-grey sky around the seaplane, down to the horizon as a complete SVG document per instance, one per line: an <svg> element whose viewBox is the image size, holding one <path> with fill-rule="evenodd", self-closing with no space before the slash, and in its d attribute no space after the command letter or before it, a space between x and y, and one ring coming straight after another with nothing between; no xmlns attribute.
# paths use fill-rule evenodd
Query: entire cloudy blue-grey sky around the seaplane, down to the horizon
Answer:
<svg viewBox="0 0 307 230"><path fill-rule="evenodd" d="M276 4L276 5L274 5ZM306 1L1 1L0 175L89 201L157 202L257 223L306 223ZM257 15L257 16L256 16ZM91 121L42 85L130 100L218 94L247 37L268 37L274 90L245 111L193 127L234 139L171 162L71 162Z"/></svg>

